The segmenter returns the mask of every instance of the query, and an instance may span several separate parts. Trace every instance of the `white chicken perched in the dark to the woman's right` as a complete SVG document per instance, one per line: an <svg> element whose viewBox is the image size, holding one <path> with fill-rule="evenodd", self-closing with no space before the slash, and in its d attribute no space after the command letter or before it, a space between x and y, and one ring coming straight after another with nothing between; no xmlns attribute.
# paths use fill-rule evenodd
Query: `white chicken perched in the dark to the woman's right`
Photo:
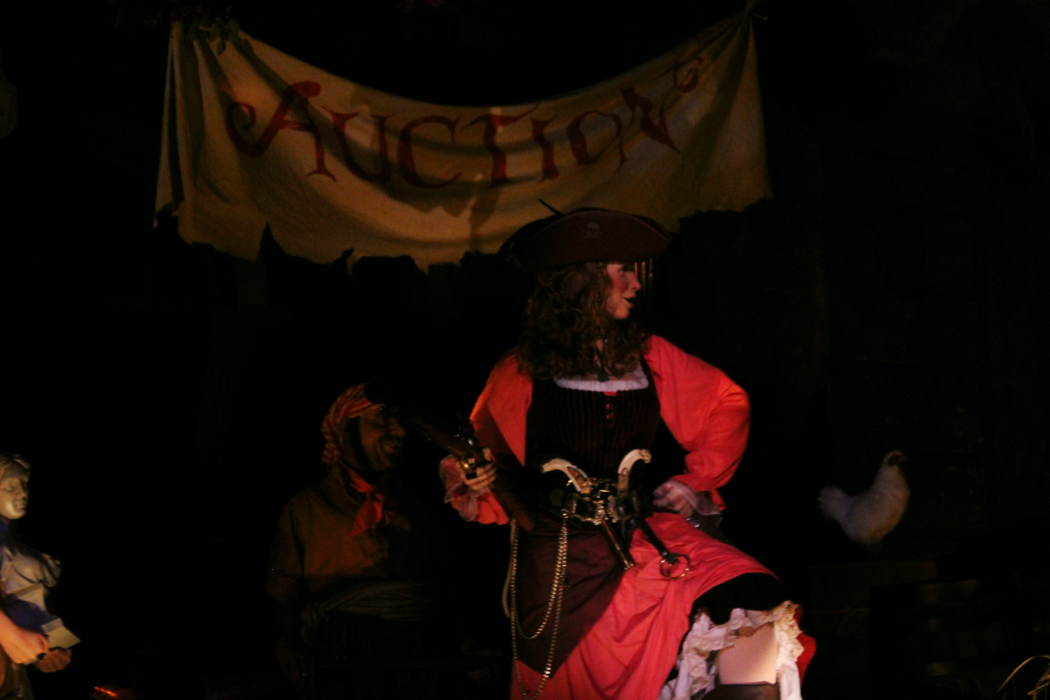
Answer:
<svg viewBox="0 0 1050 700"><path fill-rule="evenodd" d="M846 495L842 489L825 486L817 503L820 510L842 526L854 542L877 547L897 527L908 506L911 494L901 473L901 462L907 458L899 449L882 458L882 466L872 488L857 495Z"/></svg>

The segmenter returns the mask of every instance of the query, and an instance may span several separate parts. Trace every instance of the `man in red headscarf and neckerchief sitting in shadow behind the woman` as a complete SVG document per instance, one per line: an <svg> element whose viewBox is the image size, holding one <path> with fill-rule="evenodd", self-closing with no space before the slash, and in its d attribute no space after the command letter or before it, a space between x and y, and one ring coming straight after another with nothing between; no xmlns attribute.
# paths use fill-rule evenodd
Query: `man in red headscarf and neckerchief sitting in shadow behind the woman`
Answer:
<svg viewBox="0 0 1050 700"><path fill-rule="evenodd" d="M321 433L328 475L285 505L270 554L278 660L304 698L422 693L438 548L398 475L405 430L358 384L329 409Z"/></svg>

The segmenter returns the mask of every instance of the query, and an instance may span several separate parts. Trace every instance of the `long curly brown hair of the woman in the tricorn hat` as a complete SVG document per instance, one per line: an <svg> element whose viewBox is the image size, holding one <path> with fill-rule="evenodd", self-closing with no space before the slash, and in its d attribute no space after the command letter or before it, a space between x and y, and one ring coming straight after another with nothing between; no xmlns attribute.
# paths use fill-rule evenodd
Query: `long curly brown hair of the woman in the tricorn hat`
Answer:
<svg viewBox="0 0 1050 700"><path fill-rule="evenodd" d="M532 379L576 377L604 369L611 377L633 372L649 334L606 311L612 280L608 262L578 262L540 273L525 306L519 366ZM597 341L605 338L602 351Z"/></svg>

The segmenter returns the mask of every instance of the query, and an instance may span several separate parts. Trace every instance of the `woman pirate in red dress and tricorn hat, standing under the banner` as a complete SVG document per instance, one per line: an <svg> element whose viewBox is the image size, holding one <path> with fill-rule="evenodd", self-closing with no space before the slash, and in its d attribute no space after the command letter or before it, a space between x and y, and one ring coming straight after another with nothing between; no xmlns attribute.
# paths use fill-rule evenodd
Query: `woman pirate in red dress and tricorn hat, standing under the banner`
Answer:
<svg viewBox="0 0 1050 700"><path fill-rule="evenodd" d="M631 319L630 263L669 240L651 219L582 209L505 246L539 284L522 345L471 415L494 463L449 458L442 478L463 517L512 528L512 698L801 700L813 643L797 606L712 525L743 453L748 397ZM660 420L687 457L647 493ZM498 475L532 494L529 529L489 490Z"/></svg>

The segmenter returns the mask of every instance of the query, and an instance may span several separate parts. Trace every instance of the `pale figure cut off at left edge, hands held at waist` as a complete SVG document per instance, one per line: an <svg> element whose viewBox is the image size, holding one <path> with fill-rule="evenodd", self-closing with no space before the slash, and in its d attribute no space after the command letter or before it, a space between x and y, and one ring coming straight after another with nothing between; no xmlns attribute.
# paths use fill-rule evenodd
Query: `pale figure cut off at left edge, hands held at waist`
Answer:
<svg viewBox="0 0 1050 700"><path fill-rule="evenodd" d="M25 665L44 673L65 669L80 640L47 609L59 563L23 543L14 521L25 515L29 463L0 451L0 700L33 698Z"/></svg>

